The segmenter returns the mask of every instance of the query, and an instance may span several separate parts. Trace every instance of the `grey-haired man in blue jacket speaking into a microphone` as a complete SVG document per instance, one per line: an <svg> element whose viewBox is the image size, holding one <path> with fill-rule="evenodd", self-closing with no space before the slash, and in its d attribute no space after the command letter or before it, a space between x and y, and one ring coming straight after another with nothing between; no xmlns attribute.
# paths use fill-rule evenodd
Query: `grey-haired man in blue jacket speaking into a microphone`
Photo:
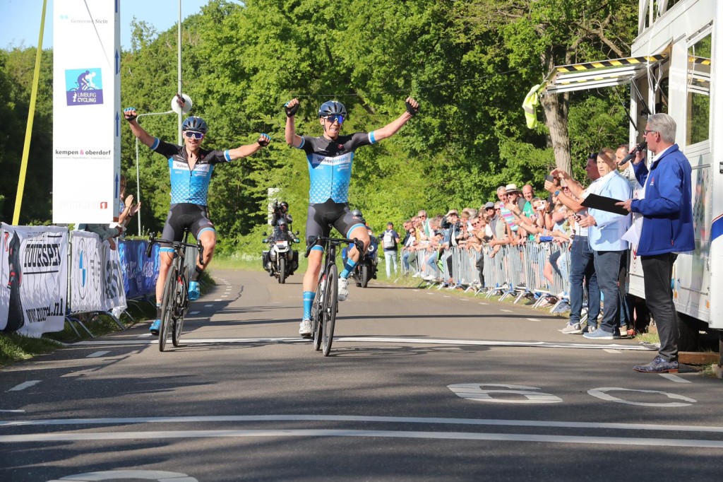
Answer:
<svg viewBox="0 0 723 482"><path fill-rule="evenodd" d="M650 170L638 152L633 169L643 190L620 206L643 216L637 255L643 264L646 303L660 337L658 356L633 369L644 373L677 373L677 313L672 300L672 267L678 253L696 248L690 162L675 144L675 120L668 114L648 118L644 137L654 154Z"/></svg>

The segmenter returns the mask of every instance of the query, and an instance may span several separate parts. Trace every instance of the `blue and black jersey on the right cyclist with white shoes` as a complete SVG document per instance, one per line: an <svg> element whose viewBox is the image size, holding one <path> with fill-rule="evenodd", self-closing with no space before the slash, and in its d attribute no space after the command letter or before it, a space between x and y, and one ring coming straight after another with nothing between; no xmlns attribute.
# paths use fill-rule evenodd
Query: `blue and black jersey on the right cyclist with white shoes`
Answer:
<svg viewBox="0 0 723 482"><path fill-rule="evenodd" d="M375 143L374 132L340 135L335 140L307 135L301 139L299 149L307 153L309 161L309 203L324 203L328 199L335 203L348 202L354 151Z"/></svg>

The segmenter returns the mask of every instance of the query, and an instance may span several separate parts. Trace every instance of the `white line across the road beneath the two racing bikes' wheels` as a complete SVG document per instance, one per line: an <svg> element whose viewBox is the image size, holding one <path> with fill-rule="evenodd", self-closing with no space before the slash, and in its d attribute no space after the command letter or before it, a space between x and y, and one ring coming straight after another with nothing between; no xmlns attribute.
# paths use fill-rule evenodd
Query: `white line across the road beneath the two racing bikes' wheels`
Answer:
<svg viewBox="0 0 723 482"><path fill-rule="evenodd" d="M73 343L73 346L124 346L139 344L140 340L88 340L85 342ZM147 344L158 343L158 339L143 340ZM249 344L249 343L308 343L308 339L286 338L286 337L266 337L266 338L195 338L183 340L184 345L187 344ZM495 340L476 340L476 339L427 339L427 338L411 338L411 337L334 337L334 342L357 342L357 343L408 343L408 344L447 344L447 345L475 345L484 347L530 347L530 348L576 348L582 350L604 350L606 348L615 348L617 350L633 350L633 351L651 351L656 348L645 347L638 344L587 344L573 342L515 342L515 341L495 341Z"/></svg>

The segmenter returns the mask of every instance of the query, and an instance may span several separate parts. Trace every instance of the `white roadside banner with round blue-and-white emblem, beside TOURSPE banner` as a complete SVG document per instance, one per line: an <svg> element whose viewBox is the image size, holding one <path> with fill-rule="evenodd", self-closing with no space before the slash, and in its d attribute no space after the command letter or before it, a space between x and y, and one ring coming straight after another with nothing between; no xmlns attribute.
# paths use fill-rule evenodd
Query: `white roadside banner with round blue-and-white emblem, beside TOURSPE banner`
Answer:
<svg viewBox="0 0 723 482"><path fill-rule="evenodd" d="M98 234L71 233L70 310L72 313L126 308L118 251Z"/></svg>

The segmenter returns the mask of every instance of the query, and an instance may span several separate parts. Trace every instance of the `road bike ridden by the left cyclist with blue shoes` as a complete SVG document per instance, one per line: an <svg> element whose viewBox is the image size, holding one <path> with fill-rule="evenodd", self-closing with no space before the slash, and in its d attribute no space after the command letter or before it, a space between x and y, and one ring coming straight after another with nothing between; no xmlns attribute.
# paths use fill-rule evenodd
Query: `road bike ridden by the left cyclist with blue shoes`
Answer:
<svg viewBox="0 0 723 482"><path fill-rule="evenodd" d="M187 253L185 248L198 248L198 258L201 266L203 266L203 246L200 241L195 244L189 243L188 235L189 230L184 229L183 241L170 241L156 238L151 234L145 252L145 255L150 258L151 248L157 243L171 245L174 250L174 261L168 269L166 283L163 284L163 297L161 298L161 326L158 328L158 349L162 352L166 350L168 331L171 331L171 341L174 347L178 347L181 343L183 321L189 306L186 273Z"/></svg>

